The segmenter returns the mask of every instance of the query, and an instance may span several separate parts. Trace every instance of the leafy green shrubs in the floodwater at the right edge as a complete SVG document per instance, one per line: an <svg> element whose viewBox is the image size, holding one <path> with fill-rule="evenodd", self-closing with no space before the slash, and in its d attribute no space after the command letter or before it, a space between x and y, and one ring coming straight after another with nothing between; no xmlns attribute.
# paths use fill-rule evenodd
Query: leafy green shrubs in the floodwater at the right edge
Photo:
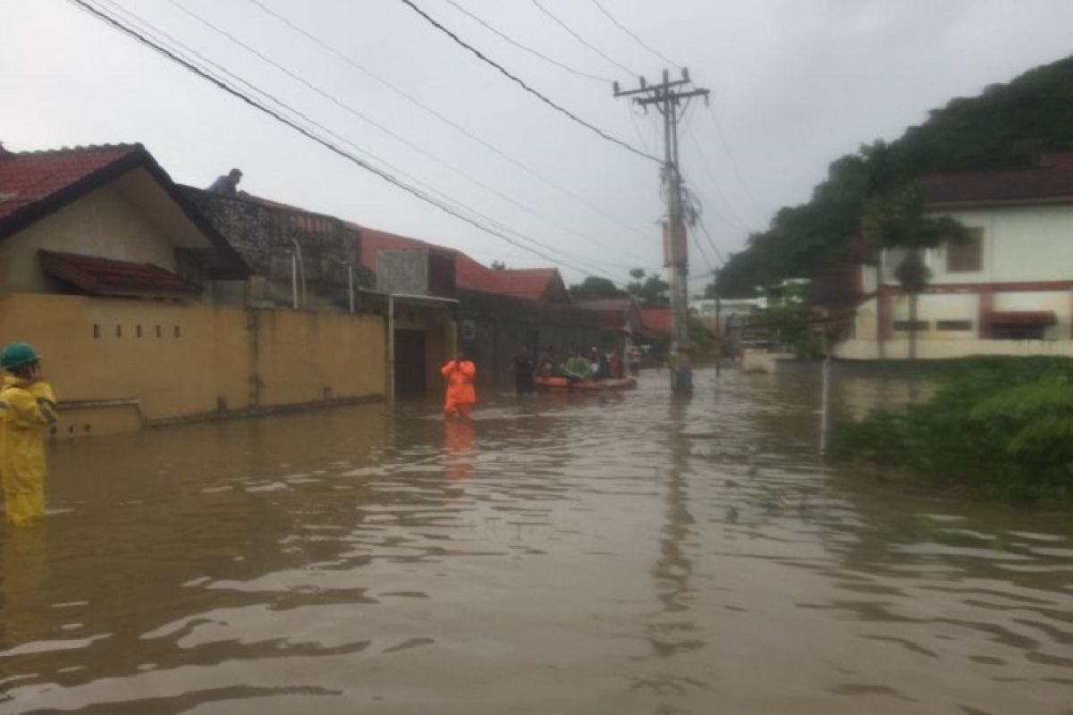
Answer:
<svg viewBox="0 0 1073 715"><path fill-rule="evenodd" d="M1073 360L970 358L938 371L945 385L928 402L838 426L836 456L1018 503L1070 496Z"/></svg>

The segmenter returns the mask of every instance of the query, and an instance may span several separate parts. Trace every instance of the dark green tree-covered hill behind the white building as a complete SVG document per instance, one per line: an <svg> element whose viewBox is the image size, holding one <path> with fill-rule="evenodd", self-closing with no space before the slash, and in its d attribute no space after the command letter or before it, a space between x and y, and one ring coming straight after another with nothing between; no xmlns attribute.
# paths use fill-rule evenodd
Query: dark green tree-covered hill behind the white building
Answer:
<svg viewBox="0 0 1073 715"><path fill-rule="evenodd" d="M899 139L833 162L809 203L780 209L767 230L731 256L719 292L751 295L758 285L815 275L849 259L864 197L884 178L1031 166L1041 150L1060 148L1073 148L1073 56L980 96L951 100Z"/></svg>

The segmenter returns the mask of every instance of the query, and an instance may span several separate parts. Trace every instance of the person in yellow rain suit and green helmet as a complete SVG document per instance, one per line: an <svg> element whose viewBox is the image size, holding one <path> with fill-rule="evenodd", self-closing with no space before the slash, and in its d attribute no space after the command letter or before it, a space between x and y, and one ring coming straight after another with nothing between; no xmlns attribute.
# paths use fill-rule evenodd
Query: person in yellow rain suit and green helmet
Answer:
<svg viewBox="0 0 1073 715"><path fill-rule="evenodd" d="M0 389L0 480L8 523L45 518L45 427L56 421L56 396L39 373L41 356L26 343L0 352L8 371Z"/></svg>

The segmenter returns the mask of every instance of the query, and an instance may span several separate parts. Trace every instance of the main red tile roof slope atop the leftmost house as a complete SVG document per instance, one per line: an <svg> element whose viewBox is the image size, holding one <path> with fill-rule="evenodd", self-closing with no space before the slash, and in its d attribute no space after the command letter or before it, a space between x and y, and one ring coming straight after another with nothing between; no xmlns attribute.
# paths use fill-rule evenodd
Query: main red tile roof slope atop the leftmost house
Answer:
<svg viewBox="0 0 1073 715"><path fill-rule="evenodd" d="M0 221L138 151L139 144L19 153L0 148Z"/></svg>

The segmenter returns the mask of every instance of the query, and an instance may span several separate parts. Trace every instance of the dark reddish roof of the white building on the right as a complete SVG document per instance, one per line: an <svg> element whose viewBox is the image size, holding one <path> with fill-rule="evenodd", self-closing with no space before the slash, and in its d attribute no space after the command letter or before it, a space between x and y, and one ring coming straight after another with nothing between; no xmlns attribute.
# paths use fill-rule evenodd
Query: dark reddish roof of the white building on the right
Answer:
<svg viewBox="0 0 1073 715"><path fill-rule="evenodd" d="M1056 153L1030 169L930 174L921 189L927 205L1073 202L1073 161Z"/></svg>

